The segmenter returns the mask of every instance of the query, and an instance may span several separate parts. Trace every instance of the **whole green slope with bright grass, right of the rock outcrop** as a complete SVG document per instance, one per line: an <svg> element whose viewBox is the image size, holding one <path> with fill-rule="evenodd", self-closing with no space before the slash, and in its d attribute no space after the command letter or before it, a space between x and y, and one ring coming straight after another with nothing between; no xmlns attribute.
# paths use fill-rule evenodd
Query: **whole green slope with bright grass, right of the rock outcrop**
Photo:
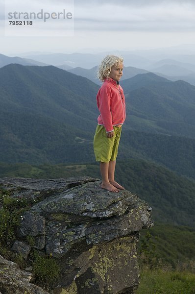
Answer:
<svg viewBox="0 0 195 294"><path fill-rule="evenodd" d="M195 229L155 224L141 232L136 294L195 294Z"/></svg>

